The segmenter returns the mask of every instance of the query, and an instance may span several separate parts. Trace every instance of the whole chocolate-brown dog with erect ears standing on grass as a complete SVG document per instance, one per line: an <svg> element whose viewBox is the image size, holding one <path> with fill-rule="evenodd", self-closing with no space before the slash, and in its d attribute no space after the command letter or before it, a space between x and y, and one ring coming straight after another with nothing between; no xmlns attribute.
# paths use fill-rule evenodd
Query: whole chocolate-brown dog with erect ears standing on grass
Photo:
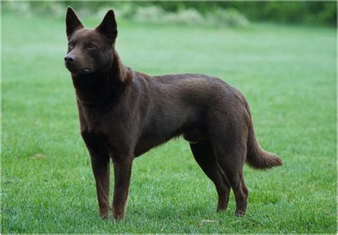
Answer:
<svg viewBox="0 0 338 235"><path fill-rule="evenodd" d="M200 74L148 76L123 65L115 50L113 10L94 29L66 14L66 68L76 90L81 135L96 180L100 215L109 214L109 161L114 167L113 217L126 215L134 157L173 137L190 142L195 160L215 184L217 211L225 210L230 188L237 215L244 215L248 190L242 167L282 165L262 150L242 94L218 78Z"/></svg>

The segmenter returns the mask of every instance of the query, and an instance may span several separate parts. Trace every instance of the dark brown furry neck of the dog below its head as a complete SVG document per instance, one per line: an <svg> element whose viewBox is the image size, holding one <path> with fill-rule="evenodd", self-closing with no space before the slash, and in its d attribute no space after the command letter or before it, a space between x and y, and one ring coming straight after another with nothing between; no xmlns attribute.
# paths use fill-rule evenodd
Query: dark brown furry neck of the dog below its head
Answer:
<svg viewBox="0 0 338 235"><path fill-rule="evenodd" d="M113 51L113 64L108 73L73 75L76 98L84 106L101 106L113 102L133 80L133 71L124 66L118 53Z"/></svg>

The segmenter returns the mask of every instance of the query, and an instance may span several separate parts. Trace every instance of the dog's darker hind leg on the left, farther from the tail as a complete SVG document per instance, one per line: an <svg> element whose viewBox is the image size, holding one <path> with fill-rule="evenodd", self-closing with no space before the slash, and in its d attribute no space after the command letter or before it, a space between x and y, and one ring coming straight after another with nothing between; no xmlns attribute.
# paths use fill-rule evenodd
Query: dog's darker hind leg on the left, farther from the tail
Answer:
<svg viewBox="0 0 338 235"><path fill-rule="evenodd" d="M217 211L227 209L227 203L229 202L230 195L230 185L226 182L224 177L222 177L211 145L207 142L207 140L201 140L195 144L190 144L190 148L196 162L198 162L200 167L203 169L203 172L205 172L205 174L215 184L218 194Z"/></svg>

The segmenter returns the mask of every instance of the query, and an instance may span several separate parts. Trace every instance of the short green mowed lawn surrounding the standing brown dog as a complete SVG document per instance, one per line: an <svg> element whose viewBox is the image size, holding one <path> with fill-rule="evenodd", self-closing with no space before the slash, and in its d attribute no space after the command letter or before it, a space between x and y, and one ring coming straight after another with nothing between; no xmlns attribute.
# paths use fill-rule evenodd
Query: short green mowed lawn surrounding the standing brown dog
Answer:
<svg viewBox="0 0 338 235"><path fill-rule="evenodd" d="M179 138L134 161L126 220L101 220L66 43L63 19L3 14L2 233L336 233L334 28L119 24L116 48L135 71L215 75L247 98L260 144L284 166L245 167L243 218L233 194L216 213L215 187Z"/></svg>

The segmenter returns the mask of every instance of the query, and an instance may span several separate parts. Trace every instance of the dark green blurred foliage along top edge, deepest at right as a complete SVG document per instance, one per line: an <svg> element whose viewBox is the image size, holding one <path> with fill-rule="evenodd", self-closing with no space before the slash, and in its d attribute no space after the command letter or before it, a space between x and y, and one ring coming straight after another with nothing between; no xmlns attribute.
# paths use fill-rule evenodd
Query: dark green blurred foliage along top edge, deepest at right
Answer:
<svg viewBox="0 0 338 235"><path fill-rule="evenodd" d="M107 5L106 2L65 1L70 6L88 6L91 9ZM125 4L115 2L113 4ZM276 21L282 23L314 23L335 26L337 3L335 1L148 1L133 2L136 6L161 6L165 11L195 8L202 14L216 9L234 8L252 21Z"/></svg>

